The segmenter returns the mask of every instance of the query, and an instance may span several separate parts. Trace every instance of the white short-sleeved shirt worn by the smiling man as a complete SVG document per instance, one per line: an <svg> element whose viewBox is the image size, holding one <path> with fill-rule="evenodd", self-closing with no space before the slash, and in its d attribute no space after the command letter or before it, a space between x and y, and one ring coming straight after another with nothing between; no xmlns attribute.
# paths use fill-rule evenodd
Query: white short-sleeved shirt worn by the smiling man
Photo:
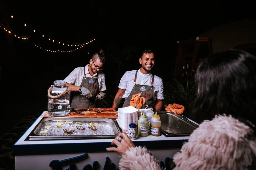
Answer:
<svg viewBox="0 0 256 170"><path fill-rule="evenodd" d="M131 90L133 89L134 77L135 77L136 71L137 70L126 71L126 73L123 75L123 77L120 80L118 88L121 88L121 89L125 90L125 94L123 95L123 98L125 98L125 99L130 95ZM143 74L143 73L141 73L140 70L138 70L136 84L151 86L151 81L152 81L152 73ZM164 96L163 96L163 80L155 75L153 86L155 87L155 90L154 90L155 98L154 98L154 100L164 99Z"/></svg>

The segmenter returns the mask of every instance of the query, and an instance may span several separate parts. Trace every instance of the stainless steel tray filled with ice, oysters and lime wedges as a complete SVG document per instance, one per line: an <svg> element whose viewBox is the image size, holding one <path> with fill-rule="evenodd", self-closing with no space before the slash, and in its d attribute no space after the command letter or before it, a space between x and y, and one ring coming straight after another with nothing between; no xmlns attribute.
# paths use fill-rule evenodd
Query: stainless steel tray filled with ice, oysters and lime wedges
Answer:
<svg viewBox="0 0 256 170"><path fill-rule="evenodd" d="M57 127L57 121L62 121L63 127ZM73 121L72 124L66 121ZM77 122L83 122L82 125ZM88 128L90 122L98 125L97 130ZM51 126L50 129L45 126ZM82 126L85 130L79 130L76 126ZM75 130L72 134L64 133L63 129ZM48 130L47 133L41 134L40 131ZM65 139L104 139L115 138L121 133L115 119L109 118L80 118L80 117L44 117L31 131L26 141L30 140L65 140Z"/></svg>

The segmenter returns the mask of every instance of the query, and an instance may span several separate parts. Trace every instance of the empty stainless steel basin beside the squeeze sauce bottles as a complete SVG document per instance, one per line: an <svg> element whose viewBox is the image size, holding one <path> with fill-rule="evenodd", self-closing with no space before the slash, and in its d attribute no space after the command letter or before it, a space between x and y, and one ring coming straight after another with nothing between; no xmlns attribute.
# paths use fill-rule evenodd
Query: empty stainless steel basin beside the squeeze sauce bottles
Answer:
<svg viewBox="0 0 256 170"><path fill-rule="evenodd" d="M166 111L157 112L161 117L161 131L166 137L189 136L198 125L189 121L186 117Z"/></svg>

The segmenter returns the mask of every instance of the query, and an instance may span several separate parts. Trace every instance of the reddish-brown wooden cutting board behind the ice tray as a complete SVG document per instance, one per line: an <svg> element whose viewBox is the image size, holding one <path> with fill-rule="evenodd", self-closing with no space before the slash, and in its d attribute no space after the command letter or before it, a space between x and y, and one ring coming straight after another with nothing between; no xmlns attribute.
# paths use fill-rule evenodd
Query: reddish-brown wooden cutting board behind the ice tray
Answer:
<svg viewBox="0 0 256 170"><path fill-rule="evenodd" d="M70 112L67 116L63 117L88 117L88 118L110 118L110 119L117 119L117 111L113 108L74 108L75 110L79 109L101 109L101 113L97 113L94 111L83 111L84 115L75 113L75 112ZM42 117L50 117L48 112L45 112Z"/></svg>

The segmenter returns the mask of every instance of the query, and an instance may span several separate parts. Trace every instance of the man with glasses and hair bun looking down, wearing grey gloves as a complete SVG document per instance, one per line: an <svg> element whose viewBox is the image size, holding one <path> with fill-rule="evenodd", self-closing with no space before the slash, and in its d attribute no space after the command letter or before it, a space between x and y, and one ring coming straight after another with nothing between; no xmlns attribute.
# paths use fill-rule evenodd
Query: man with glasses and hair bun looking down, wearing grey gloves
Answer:
<svg viewBox="0 0 256 170"><path fill-rule="evenodd" d="M89 64L85 67L75 68L64 79L70 91L76 92L71 103L71 108L96 107L96 100L104 99L106 94L105 75L102 71L105 56L101 49L93 54Z"/></svg>

